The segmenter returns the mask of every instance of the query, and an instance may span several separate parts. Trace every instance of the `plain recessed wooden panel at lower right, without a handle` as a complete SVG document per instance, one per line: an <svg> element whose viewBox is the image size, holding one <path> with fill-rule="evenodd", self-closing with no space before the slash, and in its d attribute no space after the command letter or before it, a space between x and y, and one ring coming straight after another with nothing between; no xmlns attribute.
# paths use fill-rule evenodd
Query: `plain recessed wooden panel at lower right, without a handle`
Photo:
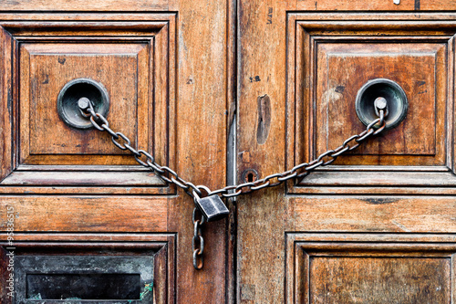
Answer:
<svg viewBox="0 0 456 304"><path fill-rule="evenodd" d="M448 303L449 258L314 257L310 303Z"/></svg>

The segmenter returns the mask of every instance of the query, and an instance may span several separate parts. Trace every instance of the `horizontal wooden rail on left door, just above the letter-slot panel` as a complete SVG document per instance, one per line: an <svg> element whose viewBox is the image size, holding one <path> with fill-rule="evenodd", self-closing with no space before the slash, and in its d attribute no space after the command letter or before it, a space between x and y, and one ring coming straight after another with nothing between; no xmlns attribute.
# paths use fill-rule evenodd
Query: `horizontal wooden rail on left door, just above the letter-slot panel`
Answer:
<svg viewBox="0 0 456 304"><path fill-rule="evenodd" d="M101 196L2 196L14 207L15 231L157 231L168 225L168 199ZM5 216L1 230L5 230Z"/></svg>

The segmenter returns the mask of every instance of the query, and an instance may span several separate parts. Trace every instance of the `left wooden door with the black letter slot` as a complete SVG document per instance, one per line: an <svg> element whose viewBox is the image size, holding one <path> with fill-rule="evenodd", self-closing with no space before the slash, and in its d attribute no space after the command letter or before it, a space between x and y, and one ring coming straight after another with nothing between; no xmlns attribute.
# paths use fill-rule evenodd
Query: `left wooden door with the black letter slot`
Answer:
<svg viewBox="0 0 456 304"><path fill-rule="evenodd" d="M1 302L223 302L226 222L203 228L204 267L194 270L190 196L108 133L67 125L57 98L71 80L97 81L110 127L135 149L223 187L233 5L4 1L1 10Z"/></svg>

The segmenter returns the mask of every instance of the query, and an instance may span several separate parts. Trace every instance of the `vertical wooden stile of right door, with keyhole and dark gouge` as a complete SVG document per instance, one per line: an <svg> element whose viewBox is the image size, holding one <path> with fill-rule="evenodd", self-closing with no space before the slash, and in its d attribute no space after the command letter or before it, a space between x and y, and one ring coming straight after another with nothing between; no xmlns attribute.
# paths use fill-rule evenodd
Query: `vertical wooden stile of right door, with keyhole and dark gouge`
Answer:
<svg viewBox="0 0 456 304"><path fill-rule="evenodd" d="M292 2L238 2L237 178L254 169L263 178L285 169L285 30ZM270 100L270 129L258 143L258 99ZM245 157L249 155L249 157ZM244 195L238 206L238 303L284 302L287 200L280 189Z"/></svg>

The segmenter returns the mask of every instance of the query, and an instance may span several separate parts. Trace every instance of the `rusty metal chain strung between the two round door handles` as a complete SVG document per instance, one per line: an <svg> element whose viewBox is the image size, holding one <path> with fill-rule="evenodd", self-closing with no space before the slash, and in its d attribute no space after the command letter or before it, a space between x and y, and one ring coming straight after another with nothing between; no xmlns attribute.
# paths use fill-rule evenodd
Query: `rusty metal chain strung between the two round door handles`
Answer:
<svg viewBox="0 0 456 304"><path fill-rule="evenodd" d="M376 100L377 101L377 100ZM376 113L378 113L378 119L372 121L365 131L359 134L349 137L342 145L338 146L334 150L329 150L321 153L312 162L303 162L295 165L291 170L285 171L284 173L275 173L264 177L263 179L250 182L240 183L237 185L229 185L221 189L211 191L204 185L194 185L193 183L187 182L182 179L177 173L167 166L161 166L149 152L143 150L136 150L131 146L130 139L119 131L113 131L109 128L109 121L101 114L95 112L93 109L92 102L87 98L81 98L78 100L79 110L81 114L89 118L92 125L99 131L107 131L111 135L112 142L120 150L129 150L135 160L142 166L150 168L158 177L161 178L165 183L174 183L181 187L187 194L192 196L193 200L196 200L198 196L211 196L219 195L223 197L234 197L241 194L250 194L254 191L275 187L285 181L291 179L302 179L308 173L311 173L319 166L326 166L334 161L337 157L344 154L345 152L352 151L358 148L361 142L365 142L369 137L378 135L386 127L385 112L388 114L386 103L384 106L377 106ZM377 130L376 130L377 129ZM122 142L119 142L122 141ZM205 195L202 193L205 192ZM197 195L194 195L193 192ZM202 254L204 251L204 239L202 237L202 225L204 224L204 217L201 219L196 218L196 213L199 212L197 208L193 209L192 221L194 225L194 232L192 238L192 253L193 253L193 267L197 270L202 269L203 258Z"/></svg>

